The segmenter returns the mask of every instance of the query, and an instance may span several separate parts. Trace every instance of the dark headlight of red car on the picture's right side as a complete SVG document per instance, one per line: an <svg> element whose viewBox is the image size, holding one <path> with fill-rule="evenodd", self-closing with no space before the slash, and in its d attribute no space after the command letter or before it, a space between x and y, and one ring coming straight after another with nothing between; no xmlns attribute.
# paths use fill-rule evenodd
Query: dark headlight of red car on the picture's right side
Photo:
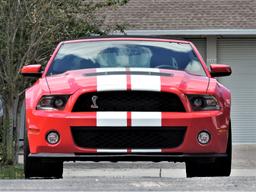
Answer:
<svg viewBox="0 0 256 192"><path fill-rule="evenodd" d="M220 110L217 99L212 95L188 95L193 111Z"/></svg>

